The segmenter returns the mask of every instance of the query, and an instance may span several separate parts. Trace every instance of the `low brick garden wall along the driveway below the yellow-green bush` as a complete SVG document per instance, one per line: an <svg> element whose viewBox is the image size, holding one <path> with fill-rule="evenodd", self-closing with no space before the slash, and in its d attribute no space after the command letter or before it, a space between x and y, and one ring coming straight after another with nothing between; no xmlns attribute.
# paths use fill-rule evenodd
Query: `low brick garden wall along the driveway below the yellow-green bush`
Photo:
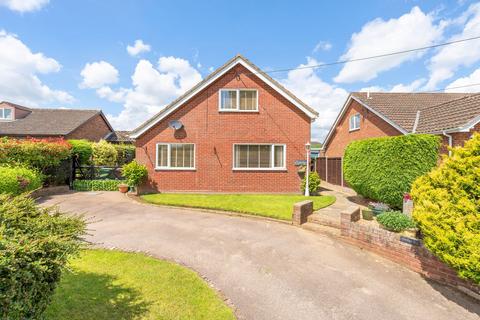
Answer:
<svg viewBox="0 0 480 320"><path fill-rule="evenodd" d="M359 219L359 208L349 208L342 212L341 235L345 240L395 261L428 279L457 287L480 298L479 286L460 279L453 269L430 253L420 240L363 224L358 222Z"/></svg>

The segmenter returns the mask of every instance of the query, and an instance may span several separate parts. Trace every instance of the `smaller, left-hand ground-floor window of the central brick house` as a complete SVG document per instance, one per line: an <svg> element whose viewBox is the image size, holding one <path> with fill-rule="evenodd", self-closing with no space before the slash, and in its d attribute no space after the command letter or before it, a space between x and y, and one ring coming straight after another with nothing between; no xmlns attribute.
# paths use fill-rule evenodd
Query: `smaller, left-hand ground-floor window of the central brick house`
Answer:
<svg viewBox="0 0 480 320"><path fill-rule="evenodd" d="M157 169L195 169L195 145L158 143Z"/></svg>

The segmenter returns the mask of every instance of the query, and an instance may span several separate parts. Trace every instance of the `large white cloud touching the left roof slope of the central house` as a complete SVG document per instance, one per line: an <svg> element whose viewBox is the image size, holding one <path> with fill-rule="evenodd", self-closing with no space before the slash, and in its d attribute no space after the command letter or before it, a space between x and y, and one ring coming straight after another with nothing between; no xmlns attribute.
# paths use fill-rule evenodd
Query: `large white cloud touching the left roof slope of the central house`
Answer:
<svg viewBox="0 0 480 320"><path fill-rule="evenodd" d="M184 59L161 57L158 65L140 60L132 75L132 88L113 90L101 87L97 94L113 102L123 103L117 115L107 115L116 129L134 129L159 112L173 99L202 80L200 73Z"/></svg>

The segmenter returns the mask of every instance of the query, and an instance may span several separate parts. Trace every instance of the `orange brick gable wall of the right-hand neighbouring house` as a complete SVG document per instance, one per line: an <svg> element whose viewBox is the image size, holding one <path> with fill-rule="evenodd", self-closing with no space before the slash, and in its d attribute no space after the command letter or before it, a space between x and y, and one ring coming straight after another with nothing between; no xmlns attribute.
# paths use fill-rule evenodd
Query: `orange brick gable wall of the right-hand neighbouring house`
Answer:
<svg viewBox="0 0 480 320"><path fill-rule="evenodd" d="M360 113L360 129L350 131L350 116ZM357 101L352 100L326 146L327 157L343 157L347 145L355 140L398 136L402 133Z"/></svg>

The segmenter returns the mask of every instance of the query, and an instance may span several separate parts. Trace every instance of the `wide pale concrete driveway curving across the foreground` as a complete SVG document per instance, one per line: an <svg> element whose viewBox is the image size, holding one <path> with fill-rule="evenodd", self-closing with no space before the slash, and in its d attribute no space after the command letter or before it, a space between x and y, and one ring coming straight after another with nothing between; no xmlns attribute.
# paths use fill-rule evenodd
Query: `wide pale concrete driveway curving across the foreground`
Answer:
<svg viewBox="0 0 480 320"><path fill-rule="evenodd" d="M44 204L94 217L106 248L148 252L207 278L240 319L479 319L471 298L374 254L290 225L137 203L117 192Z"/></svg>

